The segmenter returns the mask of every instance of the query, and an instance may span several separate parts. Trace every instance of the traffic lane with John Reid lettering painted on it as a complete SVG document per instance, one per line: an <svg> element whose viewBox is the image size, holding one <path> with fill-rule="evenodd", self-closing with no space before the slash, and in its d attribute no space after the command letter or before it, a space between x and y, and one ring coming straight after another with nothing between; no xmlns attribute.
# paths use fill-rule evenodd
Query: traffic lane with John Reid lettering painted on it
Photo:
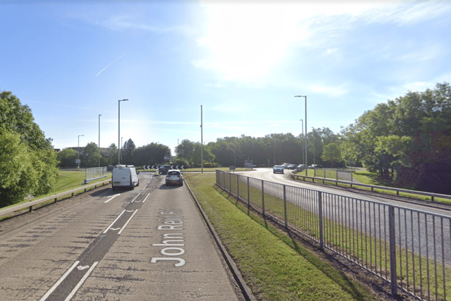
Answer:
<svg viewBox="0 0 451 301"><path fill-rule="evenodd" d="M152 192L73 300L239 300L186 186Z"/></svg>

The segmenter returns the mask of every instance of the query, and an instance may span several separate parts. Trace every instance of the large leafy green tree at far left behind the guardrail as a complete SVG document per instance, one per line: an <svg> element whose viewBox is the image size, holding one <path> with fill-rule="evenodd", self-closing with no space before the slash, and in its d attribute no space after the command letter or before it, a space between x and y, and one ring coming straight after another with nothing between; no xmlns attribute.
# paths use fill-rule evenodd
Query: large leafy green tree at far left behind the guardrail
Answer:
<svg viewBox="0 0 451 301"><path fill-rule="evenodd" d="M0 149L0 206L49 192L58 178L51 139L30 108L6 91L0 92Z"/></svg>

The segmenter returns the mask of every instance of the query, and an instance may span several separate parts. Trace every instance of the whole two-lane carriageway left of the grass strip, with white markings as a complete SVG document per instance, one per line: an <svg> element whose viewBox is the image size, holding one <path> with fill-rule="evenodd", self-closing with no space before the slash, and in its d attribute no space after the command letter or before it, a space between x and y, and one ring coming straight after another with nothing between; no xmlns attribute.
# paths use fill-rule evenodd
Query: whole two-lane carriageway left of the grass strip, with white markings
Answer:
<svg viewBox="0 0 451 301"><path fill-rule="evenodd" d="M242 300L186 186L152 175L0 223L1 300Z"/></svg>

